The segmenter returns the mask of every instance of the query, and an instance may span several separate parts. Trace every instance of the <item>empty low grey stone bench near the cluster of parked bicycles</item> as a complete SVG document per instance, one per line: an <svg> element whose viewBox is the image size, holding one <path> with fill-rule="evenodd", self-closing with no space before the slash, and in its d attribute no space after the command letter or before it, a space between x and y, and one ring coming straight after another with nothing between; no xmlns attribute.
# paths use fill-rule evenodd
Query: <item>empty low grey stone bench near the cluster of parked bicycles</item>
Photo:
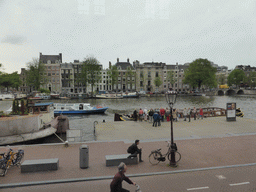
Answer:
<svg viewBox="0 0 256 192"><path fill-rule="evenodd" d="M59 159L25 160L21 164L21 173L58 170Z"/></svg>

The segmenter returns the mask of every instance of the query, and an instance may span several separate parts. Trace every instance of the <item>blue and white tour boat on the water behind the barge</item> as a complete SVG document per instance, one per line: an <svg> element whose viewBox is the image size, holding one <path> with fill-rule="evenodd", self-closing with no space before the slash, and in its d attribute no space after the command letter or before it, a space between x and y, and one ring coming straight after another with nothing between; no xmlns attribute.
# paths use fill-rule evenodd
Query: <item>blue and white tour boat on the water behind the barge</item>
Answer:
<svg viewBox="0 0 256 192"><path fill-rule="evenodd" d="M105 113L108 107L92 107L89 103L54 103L54 115Z"/></svg>

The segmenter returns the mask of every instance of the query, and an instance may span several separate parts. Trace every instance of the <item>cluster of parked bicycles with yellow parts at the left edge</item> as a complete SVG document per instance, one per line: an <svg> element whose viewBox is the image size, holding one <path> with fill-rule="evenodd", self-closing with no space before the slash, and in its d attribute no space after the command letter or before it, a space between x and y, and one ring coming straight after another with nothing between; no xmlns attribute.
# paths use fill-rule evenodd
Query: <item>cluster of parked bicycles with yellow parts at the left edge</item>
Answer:
<svg viewBox="0 0 256 192"><path fill-rule="evenodd" d="M2 174L0 174L0 176L5 176L10 166L16 165L19 167L23 156L24 150L19 149L18 152L15 153L10 148L7 155L2 155L3 158L0 159L0 168L2 169Z"/></svg>

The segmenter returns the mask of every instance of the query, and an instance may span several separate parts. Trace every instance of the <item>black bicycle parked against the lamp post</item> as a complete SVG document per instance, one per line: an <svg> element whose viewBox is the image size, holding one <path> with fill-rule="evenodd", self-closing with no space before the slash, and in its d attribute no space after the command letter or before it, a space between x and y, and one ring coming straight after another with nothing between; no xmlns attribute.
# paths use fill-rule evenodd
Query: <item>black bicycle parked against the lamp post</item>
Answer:
<svg viewBox="0 0 256 192"><path fill-rule="evenodd" d="M166 160L166 156L168 158L168 160L171 160L171 152L172 152L172 147L170 145L170 142L168 141L168 151L165 154L162 154L161 152L161 148L151 151L150 155L149 155L149 162L152 165L157 165L160 161L165 161ZM176 143L174 143L174 148L175 148L175 162L178 163L181 159L181 154L177 151L177 146Z"/></svg>

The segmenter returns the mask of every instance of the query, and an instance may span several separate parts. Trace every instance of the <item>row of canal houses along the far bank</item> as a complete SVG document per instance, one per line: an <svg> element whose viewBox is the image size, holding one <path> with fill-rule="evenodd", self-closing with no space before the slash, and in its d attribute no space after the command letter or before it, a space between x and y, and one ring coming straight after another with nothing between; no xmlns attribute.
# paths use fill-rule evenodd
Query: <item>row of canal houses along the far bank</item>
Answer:
<svg viewBox="0 0 256 192"><path fill-rule="evenodd" d="M46 70L44 76L47 76L47 82L41 82L42 88L48 89L53 93L60 94L61 96L76 97L77 95L86 95L90 93L91 86L85 87L81 82L76 81L78 74L81 72L82 62L79 60L74 60L72 63L62 62L62 53L59 55L43 55L39 54L39 59L45 64ZM109 62L109 68L112 63ZM117 58L116 65L119 76L118 82L113 85L111 84L111 79L107 73L107 69L104 69L101 65L101 81L95 85L93 90L99 93L104 92L139 92L139 91L149 91L149 92L161 92L168 88L173 88L178 92L190 91L192 88L188 84L183 84L184 71L188 68L189 63L186 64L166 64L162 62L145 62L140 63L138 60L134 61L132 64L129 61L122 62ZM219 67L216 64L212 65L217 68L219 73L228 73L228 68L226 66ZM171 84L167 78L168 71L173 71L175 83ZM22 81L22 86L20 87L20 92L31 93L33 87L26 85L26 69L21 69L20 78ZM132 72L132 73L130 73ZM129 75L128 75L129 73ZM156 77L160 77L162 80L162 85L159 87L155 86L154 80Z"/></svg>

